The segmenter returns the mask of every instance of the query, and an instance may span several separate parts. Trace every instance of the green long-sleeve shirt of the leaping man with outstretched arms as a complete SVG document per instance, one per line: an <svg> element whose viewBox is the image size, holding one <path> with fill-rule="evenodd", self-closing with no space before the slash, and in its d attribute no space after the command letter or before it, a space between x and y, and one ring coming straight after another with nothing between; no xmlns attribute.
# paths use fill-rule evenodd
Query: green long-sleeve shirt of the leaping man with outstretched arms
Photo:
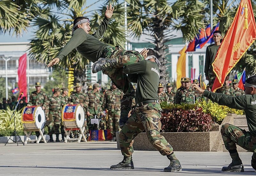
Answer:
<svg viewBox="0 0 256 176"><path fill-rule="evenodd" d="M103 36L104 32L108 27L109 20L105 17L99 26L98 30L94 34L87 34L84 29L77 28L68 43L60 53L58 54L59 59L66 57L72 50L76 50L88 60L95 62L97 61L104 48L108 47L107 44L101 42L99 39Z"/></svg>

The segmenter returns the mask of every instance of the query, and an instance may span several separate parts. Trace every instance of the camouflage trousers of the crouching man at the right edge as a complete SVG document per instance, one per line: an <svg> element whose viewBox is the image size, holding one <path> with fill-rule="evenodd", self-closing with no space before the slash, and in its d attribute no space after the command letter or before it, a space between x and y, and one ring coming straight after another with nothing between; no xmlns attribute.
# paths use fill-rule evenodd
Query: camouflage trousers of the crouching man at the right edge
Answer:
<svg viewBox="0 0 256 176"><path fill-rule="evenodd" d="M220 132L227 150L236 149L237 144L248 151L256 152L256 136L249 131L234 125L224 124L221 126Z"/></svg>

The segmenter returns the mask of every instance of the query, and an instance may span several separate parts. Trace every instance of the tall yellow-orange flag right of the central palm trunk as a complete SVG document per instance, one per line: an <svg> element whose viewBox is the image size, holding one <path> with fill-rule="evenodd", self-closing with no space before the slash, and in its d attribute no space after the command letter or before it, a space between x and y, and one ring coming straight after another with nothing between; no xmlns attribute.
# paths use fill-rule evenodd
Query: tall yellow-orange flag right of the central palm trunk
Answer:
<svg viewBox="0 0 256 176"><path fill-rule="evenodd" d="M180 57L177 62L177 81L176 81L176 87L177 89L180 88L181 83L180 80L182 77L186 77L186 51L187 46L185 45L182 50L180 50Z"/></svg>

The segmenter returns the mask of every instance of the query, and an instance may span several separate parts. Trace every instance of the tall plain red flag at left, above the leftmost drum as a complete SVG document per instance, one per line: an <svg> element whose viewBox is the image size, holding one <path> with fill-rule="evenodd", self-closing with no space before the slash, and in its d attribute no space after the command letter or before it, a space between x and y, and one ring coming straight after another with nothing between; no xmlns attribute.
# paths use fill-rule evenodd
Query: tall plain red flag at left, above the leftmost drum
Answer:
<svg viewBox="0 0 256 176"><path fill-rule="evenodd" d="M23 54L19 59L19 67L18 67L18 87L20 89L20 93L23 92L23 96L27 97L27 54Z"/></svg>

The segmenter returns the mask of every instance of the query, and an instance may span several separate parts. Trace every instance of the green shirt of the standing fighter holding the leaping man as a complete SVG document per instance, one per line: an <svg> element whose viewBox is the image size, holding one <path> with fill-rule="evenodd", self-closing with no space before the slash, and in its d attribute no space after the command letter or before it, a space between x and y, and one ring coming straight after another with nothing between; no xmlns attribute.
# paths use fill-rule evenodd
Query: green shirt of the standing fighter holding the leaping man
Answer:
<svg viewBox="0 0 256 176"><path fill-rule="evenodd" d="M157 88L159 84L160 71L155 62L142 60L135 64L125 66L123 72L125 74L129 74L129 80L131 80L131 76L135 76L135 79L137 79L135 96L136 103L147 100L158 100ZM134 74L138 74L138 78L136 78L136 75Z"/></svg>

